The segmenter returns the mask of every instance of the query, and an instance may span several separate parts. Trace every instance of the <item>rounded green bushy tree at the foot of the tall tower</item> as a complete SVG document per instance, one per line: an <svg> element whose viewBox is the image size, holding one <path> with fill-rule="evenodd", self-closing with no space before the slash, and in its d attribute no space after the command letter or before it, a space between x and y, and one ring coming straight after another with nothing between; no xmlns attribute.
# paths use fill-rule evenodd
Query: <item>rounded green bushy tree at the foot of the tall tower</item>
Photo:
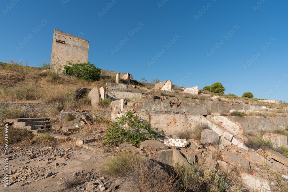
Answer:
<svg viewBox="0 0 288 192"><path fill-rule="evenodd" d="M75 76L78 79L83 80L98 80L101 75L101 69L94 66L94 64L81 63L79 60L77 63L73 61L67 61L67 65L64 65L63 75Z"/></svg>

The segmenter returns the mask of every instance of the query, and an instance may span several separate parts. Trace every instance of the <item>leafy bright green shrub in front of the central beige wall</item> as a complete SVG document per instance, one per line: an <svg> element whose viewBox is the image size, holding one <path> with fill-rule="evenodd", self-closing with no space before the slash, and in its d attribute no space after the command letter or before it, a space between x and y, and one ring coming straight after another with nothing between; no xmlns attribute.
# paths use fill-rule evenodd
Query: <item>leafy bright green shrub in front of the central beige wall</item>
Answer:
<svg viewBox="0 0 288 192"><path fill-rule="evenodd" d="M128 111L126 115L118 117L117 120L111 123L104 135L105 145L118 145L125 141L138 145L141 141L162 136L154 129L149 128L147 120L141 120L140 117L133 116L132 111Z"/></svg>

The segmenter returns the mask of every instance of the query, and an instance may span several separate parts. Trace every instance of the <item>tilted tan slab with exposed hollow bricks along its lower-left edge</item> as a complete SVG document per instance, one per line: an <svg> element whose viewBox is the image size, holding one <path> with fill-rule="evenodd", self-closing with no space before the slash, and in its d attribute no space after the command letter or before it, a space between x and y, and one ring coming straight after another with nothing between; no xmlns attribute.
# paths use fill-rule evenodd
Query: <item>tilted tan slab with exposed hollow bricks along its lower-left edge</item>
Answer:
<svg viewBox="0 0 288 192"><path fill-rule="evenodd" d="M250 163L247 159L229 151L224 151L223 155L220 157L220 160L226 161L235 167L250 168Z"/></svg>

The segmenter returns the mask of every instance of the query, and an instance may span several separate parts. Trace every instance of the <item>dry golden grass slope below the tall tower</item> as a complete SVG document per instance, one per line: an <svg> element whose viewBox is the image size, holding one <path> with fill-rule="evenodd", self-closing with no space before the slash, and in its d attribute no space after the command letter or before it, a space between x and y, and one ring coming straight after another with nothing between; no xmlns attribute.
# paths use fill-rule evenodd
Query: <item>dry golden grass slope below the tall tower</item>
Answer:
<svg viewBox="0 0 288 192"><path fill-rule="evenodd" d="M83 81L71 77L55 75L54 73L44 73L43 68L21 66L17 64L4 64L0 70L10 72L10 76L15 72L23 75L22 80L11 84L12 86L0 86L0 102L39 102L64 103L65 110L83 109L90 107L87 94L76 99L75 90L86 87L91 90L94 87L103 87L106 82L115 83L114 77L101 77L98 81ZM0 75L1 79L1 75Z"/></svg>

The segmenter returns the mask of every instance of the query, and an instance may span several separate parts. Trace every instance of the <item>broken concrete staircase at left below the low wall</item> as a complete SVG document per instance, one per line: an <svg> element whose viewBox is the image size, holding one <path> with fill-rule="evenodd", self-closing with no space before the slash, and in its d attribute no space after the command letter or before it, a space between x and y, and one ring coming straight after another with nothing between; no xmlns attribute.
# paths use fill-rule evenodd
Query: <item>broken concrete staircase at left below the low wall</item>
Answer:
<svg viewBox="0 0 288 192"><path fill-rule="evenodd" d="M5 119L4 123L13 123L14 128L26 129L32 131L33 134L48 131L52 127L50 118Z"/></svg>

